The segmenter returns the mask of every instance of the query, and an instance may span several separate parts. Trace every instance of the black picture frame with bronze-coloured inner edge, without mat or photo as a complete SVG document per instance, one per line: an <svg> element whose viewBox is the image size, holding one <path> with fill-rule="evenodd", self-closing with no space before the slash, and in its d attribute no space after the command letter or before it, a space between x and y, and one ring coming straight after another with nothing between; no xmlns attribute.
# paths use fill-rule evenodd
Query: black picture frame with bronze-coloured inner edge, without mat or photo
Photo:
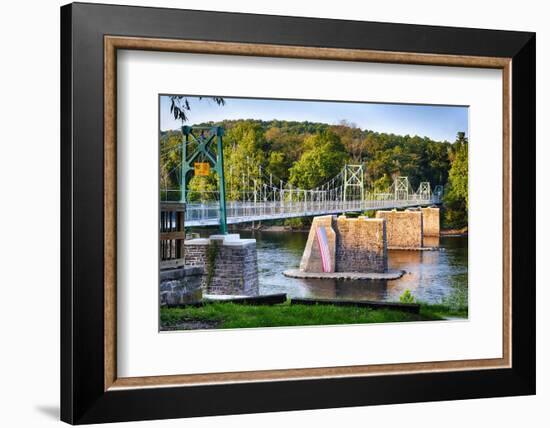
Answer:
<svg viewBox="0 0 550 428"><path fill-rule="evenodd" d="M496 251L504 266L502 358L119 378L121 49L501 69L504 240ZM85 424L534 394L535 96L533 33L63 6L61 419Z"/></svg>

